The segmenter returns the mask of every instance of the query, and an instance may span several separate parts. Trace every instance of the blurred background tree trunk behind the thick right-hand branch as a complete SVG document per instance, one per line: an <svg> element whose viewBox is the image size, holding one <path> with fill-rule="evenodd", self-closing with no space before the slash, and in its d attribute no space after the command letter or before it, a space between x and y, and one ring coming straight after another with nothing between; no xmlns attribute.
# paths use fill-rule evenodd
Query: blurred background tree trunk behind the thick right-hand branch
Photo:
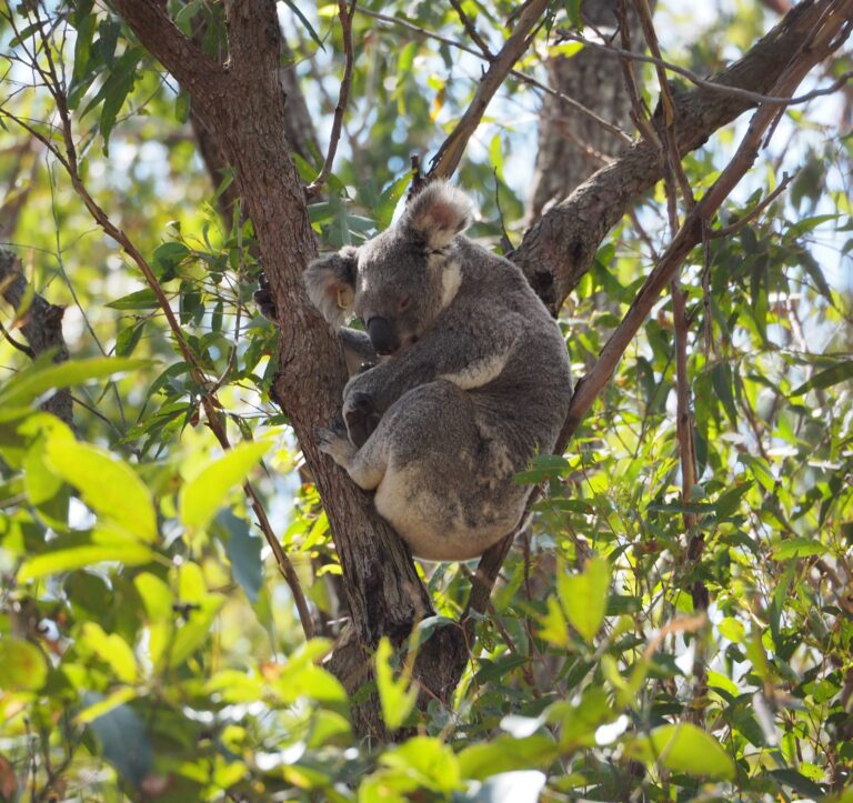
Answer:
<svg viewBox="0 0 853 803"><path fill-rule="evenodd" d="M585 0L581 14L589 36L615 37L620 0ZM632 49L641 49L642 32L636 14L629 12ZM618 59L601 50L584 48L571 58L548 60L552 89L573 98L590 111L631 131L631 99L625 91ZM594 120L570 109L560 98L546 94L539 116L539 148L526 219L533 222L550 203L565 198L578 184L602 167L603 160L624 148L624 142Z"/></svg>

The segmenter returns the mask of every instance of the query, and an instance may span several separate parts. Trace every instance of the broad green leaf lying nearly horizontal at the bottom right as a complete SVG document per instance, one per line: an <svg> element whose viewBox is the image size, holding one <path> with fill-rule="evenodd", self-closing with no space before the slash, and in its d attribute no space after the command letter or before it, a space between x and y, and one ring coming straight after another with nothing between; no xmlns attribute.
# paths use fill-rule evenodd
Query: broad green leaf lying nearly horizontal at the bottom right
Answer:
<svg viewBox="0 0 853 803"><path fill-rule="evenodd" d="M732 757L710 734L684 722L655 727L648 736L625 740L625 755L648 765L661 764L672 772L733 781Z"/></svg>

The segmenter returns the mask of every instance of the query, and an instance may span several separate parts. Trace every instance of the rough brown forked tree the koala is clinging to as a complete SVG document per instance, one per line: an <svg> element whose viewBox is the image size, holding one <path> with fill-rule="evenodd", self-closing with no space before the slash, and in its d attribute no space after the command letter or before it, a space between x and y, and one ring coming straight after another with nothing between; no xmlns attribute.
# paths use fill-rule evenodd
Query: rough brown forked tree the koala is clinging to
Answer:
<svg viewBox="0 0 853 803"><path fill-rule="evenodd" d="M431 611L431 603L402 541L379 519L371 498L355 488L314 443L314 426L324 425L338 412L345 371L338 343L313 310L301 282L302 270L317 253L317 243L284 134L287 114L278 83L281 34L275 4L271 0L225 3L228 67L199 51L157 0L116 0L116 6L142 44L192 96L195 112L213 132L235 171L239 192L254 224L281 319L281 374L275 390L291 418L329 515L352 616L352 638L335 651L332 669L353 691L370 676L369 652L379 638L389 635L401 643L414 623ZM766 92L786 74L792 62L807 69L823 58L823 50L801 52L801 46L821 23L834 26L836 34L846 36L852 6L853 0L805 0L715 80ZM680 152L698 148L747 108L750 104L741 99L708 90L676 96ZM461 148L454 147L453 153L461 154ZM660 153L640 141L528 232L515 259L552 309L559 308L589 269L595 250L629 202L662 174ZM700 202L701 214L715 210L711 200L704 205ZM673 262L688 248L700 221L694 217L689 223L680 232L678 248L671 247L668 252L666 268L659 265L650 277L652 284L663 277L665 287L670 275L666 271L672 270ZM620 338L608 344L598 380L606 381L610 361L618 360L619 349L624 349L620 347L622 335L630 341L631 328L642 323L643 305L652 292L650 282L649 292L632 307L625 327L620 327ZM579 390L576 394L575 415L565 432L576 426L595 398L594 389L600 390L603 381L601 385L592 381L581 385L583 392ZM478 610L481 601L488 601L502 549L506 548L508 542L484 555L479 574L485 582L478 581L472 588L473 610ZM415 675L422 684L424 701L450 699L468 661L471 633L472 620L468 619L460 626L439 630L421 648ZM360 733L384 734L375 700L355 705L353 719Z"/></svg>

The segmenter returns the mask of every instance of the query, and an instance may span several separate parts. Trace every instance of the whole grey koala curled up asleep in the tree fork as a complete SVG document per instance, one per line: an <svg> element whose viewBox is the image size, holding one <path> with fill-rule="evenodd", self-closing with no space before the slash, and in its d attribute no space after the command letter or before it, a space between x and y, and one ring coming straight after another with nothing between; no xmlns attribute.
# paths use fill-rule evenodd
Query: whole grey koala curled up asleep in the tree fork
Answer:
<svg viewBox="0 0 853 803"><path fill-rule="evenodd" d="M304 273L344 352L377 355L344 389L347 431L319 430L320 448L436 561L519 526L532 488L513 476L554 449L572 395L556 323L516 265L462 234L472 211L431 183L390 229ZM364 332L342 328L352 315Z"/></svg>

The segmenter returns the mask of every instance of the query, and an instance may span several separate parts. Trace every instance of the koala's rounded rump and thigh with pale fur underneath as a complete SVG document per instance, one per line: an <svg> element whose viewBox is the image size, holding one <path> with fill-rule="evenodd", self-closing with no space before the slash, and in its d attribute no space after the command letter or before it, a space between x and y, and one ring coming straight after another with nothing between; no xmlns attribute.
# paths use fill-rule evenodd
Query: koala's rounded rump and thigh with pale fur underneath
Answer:
<svg viewBox="0 0 853 803"><path fill-rule="evenodd" d="M530 488L513 475L529 454L476 397L438 380L401 397L371 436L384 444L379 513L428 560L482 554L518 524Z"/></svg>

